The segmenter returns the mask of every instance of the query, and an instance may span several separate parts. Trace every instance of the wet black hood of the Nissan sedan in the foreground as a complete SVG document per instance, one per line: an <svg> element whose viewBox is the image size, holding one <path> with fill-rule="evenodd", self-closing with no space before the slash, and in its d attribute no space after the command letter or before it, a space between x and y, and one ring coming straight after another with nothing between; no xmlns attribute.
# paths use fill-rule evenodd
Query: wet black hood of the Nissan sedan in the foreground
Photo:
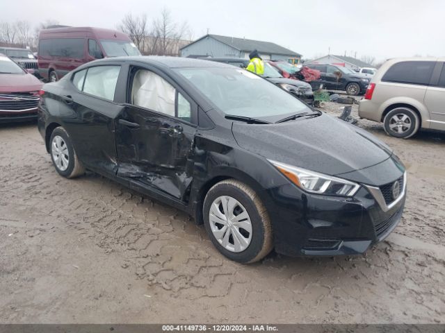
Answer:
<svg viewBox="0 0 445 333"><path fill-rule="evenodd" d="M232 132L252 153L332 176L371 167L392 154L373 135L327 114L270 125L234 122Z"/></svg>

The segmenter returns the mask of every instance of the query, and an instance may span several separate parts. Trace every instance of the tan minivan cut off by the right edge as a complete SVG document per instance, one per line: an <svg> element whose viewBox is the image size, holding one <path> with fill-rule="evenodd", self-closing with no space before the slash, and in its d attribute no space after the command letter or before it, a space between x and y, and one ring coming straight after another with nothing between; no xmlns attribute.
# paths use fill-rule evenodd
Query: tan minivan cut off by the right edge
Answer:
<svg viewBox="0 0 445 333"><path fill-rule="evenodd" d="M407 139L420 128L445 130L445 58L396 58L377 71L359 103L359 117L382 122Z"/></svg>

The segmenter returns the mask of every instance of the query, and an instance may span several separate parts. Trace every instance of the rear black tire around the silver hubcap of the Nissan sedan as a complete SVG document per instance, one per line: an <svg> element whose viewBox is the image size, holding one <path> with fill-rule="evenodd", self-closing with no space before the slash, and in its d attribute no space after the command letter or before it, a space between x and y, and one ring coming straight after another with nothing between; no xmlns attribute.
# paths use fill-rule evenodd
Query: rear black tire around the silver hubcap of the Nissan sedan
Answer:
<svg viewBox="0 0 445 333"><path fill-rule="evenodd" d="M65 148L66 146L67 155L58 153L56 144L56 142L58 141L58 137L62 139L60 142L63 142L63 144L61 144L61 147ZM54 168L60 174L60 176L66 178L75 178L85 173L85 168L77 158L76 151L74 151L70 136L63 127L55 128L51 133L51 137L49 139L49 154L51 155L51 160L53 162ZM65 164L65 162L61 162L63 163L63 165L60 166L60 164L56 162L57 155L59 155L58 160L67 160L67 164ZM64 155L65 158L63 158L61 155Z"/></svg>

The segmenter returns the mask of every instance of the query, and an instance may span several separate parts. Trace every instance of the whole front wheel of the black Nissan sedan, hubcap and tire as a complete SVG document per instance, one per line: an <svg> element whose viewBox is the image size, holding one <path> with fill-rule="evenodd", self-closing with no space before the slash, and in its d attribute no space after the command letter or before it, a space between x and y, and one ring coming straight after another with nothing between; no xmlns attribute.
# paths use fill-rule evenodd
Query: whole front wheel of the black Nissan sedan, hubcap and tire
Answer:
<svg viewBox="0 0 445 333"><path fill-rule="evenodd" d="M223 180L214 185L204 199L203 214L213 245L229 259L257 262L272 250L266 207L243 182Z"/></svg>

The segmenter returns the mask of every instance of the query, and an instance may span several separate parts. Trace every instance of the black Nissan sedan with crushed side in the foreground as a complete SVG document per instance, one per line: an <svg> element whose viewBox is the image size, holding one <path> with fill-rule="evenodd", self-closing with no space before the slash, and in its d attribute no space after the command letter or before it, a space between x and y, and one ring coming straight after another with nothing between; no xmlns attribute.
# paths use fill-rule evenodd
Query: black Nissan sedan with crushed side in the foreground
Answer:
<svg viewBox="0 0 445 333"><path fill-rule="evenodd" d="M61 176L89 169L177 207L237 262L363 253L401 219L406 173L389 147L244 69L108 58L40 95Z"/></svg>

